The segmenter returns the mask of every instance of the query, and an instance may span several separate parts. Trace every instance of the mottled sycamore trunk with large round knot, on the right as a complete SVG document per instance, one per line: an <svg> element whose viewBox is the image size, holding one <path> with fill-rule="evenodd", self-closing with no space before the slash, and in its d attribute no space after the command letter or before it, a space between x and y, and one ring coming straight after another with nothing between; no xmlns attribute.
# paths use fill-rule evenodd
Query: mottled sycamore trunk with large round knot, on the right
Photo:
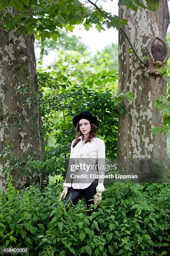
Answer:
<svg viewBox="0 0 170 256"><path fill-rule="evenodd" d="M146 5L145 0L143 3ZM127 159L159 159L167 167L166 135L152 135L150 129L163 122L153 101L166 92L165 79L155 71L166 65L166 61L163 61L165 56L161 52L168 54L169 50L166 52L160 41L165 41L169 25L168 3L167 0L160 0L159 9L155 13L143 8L135 12L121 5L119 17L128 20L128 26L123 26L123 29L139 56L150 57L148 44L153 38L156 41L151 44L155 61L150 58L149 66L146 67L135 54L129 53L130 44L122 31L119 31L119 90L133 92L134 100L122 101L127 113L119 113L117 158L124 159L124 163Z"/></svg>

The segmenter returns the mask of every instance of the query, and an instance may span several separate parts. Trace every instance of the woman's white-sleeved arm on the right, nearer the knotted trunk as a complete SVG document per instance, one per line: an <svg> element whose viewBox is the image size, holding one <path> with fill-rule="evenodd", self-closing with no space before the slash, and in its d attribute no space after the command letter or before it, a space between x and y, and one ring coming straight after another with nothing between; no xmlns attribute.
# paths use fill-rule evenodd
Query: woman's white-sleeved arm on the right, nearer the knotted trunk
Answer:
<svg viewBox="0 0 170 256"><path fill-rule="evenodd" d="M103 140L100 140L100 143L97 147L97 159L99 165L99 175L105 174L105 142ZM106 190L103 185L103 182L104 178L99 178L98 185L96 187L97 192L103 192Z"/></svg>

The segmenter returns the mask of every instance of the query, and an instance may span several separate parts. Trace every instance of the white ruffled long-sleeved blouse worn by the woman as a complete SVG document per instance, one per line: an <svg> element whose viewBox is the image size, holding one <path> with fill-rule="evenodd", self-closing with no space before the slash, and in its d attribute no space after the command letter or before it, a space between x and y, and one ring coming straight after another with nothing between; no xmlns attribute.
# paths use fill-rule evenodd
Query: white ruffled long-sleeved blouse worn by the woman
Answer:
<svg viewBox="0 0 170 256"><path fill-rule="evenodd" d="M100 138L92 138L91 142L83 143L82 142L82 136L79 137L80 141L77 143L77 145L73 148L73 144L75 140L71 143L71 151L70 151L70 159L80 159L80 158L88 158L88 159L95 159L98 164L103 164L103 161L105 161L105 142ZM94 163L95 164L95 163ZM105 164L105 163L104 163ZM104 170L98 171L98 174L104 174ZM95 179L95 178L94 178ZM93 179L93 180L94 180ZM98 185L96 187L97 192L103 192L105 191L105 187L103 185L104 179L99 178L98 179ZM74 189L85 189L89 187L91 183L63 183L63 187L72 187Z"/></svg>

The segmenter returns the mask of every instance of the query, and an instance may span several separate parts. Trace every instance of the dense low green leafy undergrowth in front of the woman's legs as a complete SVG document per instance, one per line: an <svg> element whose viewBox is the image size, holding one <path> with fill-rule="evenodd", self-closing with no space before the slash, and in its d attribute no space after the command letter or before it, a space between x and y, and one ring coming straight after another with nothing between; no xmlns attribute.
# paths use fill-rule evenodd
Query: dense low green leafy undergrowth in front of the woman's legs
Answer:
<svg viewBox="0 0 170 256"><path fill-rule="evenodd" d="M38 256L170 253L170 184L107 184L89 216L84 199L70 202L69 212L62 201L55 207L60 184L19 192L12 182L8 175L0 192L0 246L29 247Z"/></svg>

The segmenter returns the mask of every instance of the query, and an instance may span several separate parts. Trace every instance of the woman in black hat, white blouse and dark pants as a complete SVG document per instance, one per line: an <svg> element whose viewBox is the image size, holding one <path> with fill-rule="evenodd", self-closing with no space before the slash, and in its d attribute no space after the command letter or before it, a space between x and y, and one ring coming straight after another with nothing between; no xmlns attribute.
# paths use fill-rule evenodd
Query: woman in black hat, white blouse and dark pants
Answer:
<svg viewBox="0 0 170 256"><path fill-rule="evenodd" d="M72 123L75 126L77 136L71 143L70 160L88 158L96 161L98 159L99 170L97 174L104 174L104 170L100 166L105 164L105 143L102 139L96 137L99 127L97 117L94 117L90 112L82 111L80 115L76 115L72 119ZM85 173L85 171L83 172ZM77 173L80 174L80 169ZM72 183L64 182L60 200L65 197L64 204L71 200L73 205L76 205L79 199L85 197L87 209L89 209L90 204L98 204L102 200L102 192L105 191L105 187L103 185L104 179L95 179L97 176L94 175L93 178L87 179L87 183L85 183L85 180L77 182L77 179ZM93 201L89 201L90 199L93 199ZM88 213L91 214L91 212Z"/></svg>

